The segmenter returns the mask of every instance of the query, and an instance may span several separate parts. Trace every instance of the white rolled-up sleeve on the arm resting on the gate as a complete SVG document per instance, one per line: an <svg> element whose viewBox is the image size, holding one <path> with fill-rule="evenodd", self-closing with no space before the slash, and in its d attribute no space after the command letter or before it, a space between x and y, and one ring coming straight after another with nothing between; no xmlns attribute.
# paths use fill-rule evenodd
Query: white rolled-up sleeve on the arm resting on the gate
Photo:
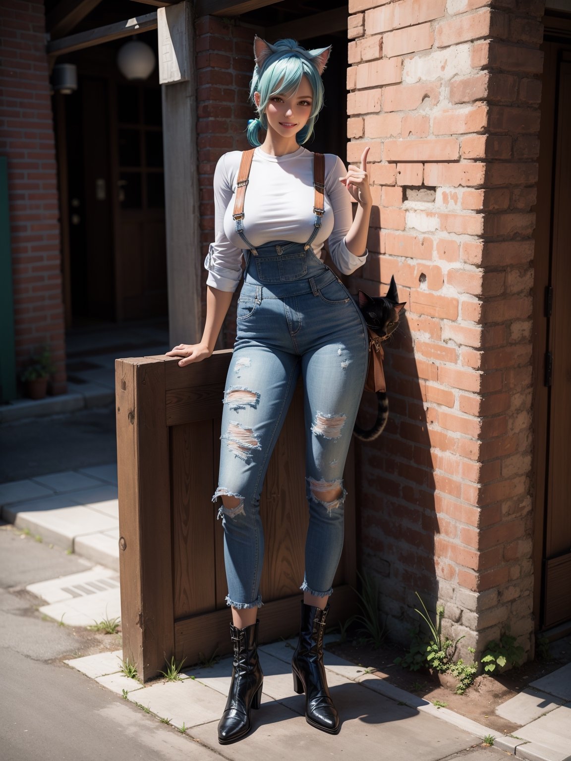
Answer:
<svg viewBox="0 0 571 761"><path fill-rule="evenodd" d="M238 288L242 275L242 251L231 244L224 231L224 215L232 196L225 156L221 156L214 171L214 242L209 245L204 266L208 270L206 285L230 292Z"/></svg>

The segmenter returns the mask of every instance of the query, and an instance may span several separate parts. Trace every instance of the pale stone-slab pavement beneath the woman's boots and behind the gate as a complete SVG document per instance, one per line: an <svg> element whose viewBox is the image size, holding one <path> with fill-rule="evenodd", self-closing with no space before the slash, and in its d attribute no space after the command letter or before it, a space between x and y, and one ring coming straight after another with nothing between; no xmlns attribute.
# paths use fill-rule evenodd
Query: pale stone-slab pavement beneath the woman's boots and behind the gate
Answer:
<svg viewBox="0 0 571 761"><path fill-rule="evenodd" d="M27 590L46 603L40 607L41 613L75 626L120 616L114 463L0 484L0 508L5 521L94 562L83 572L28 584ZM416 761L419 753L423 761L438 761L469 752L474 761L480 761L502 750L528 761L571 761L571 665L537 680L499 706L499 715L522 725L517 737L500 737L496 731L447 708L436 708L327 653L328 680L344 722L340 735L331 737L305 722L303 697L293 691L289 667L292 645L279 642L260 648L263 708L253 712L251 736L224 747L225 758L242 759L259 753L272 761L298 757L301 761L310 753L314 757L318 749L320 757L357 753L397 761ZM121 657L117 651L65 662L159 718L168 719L172 727L187 728L196 740L221 752L216 725L228 691L229 658L210 669L184 671L180 681L142 686L123 676ZM496 737L493 749L480 747L486 734Z"/></svg>

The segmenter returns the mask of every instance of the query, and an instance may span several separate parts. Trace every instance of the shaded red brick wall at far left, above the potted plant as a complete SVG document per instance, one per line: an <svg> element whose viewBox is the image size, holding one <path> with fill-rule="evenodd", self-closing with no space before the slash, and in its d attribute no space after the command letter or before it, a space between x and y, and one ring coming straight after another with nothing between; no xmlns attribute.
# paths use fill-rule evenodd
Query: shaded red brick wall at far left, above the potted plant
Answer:
<svg viewBox="0 0 571 761"><path fill-rule="evenodd" d="M6 0L0 18L0 152L8 156L16 364L48 343L51 393L65 392L56 151L42 2Z"/></svg>

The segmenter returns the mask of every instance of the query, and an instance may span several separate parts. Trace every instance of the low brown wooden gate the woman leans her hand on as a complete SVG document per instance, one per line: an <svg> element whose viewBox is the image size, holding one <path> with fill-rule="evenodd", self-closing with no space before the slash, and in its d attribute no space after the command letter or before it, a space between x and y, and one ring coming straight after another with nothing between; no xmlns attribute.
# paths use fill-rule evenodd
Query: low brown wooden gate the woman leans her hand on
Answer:
<svg viewBox="0 0 571 761"><path fill-rule="evenodd" d="M143 682L231 651L218 485L222 396L231 350L180 368L165 356L117 359L120 584L123 658ZM308 505L301 383L260 498L266 558L260 642L298 626ZM355 612L353 445L345 469L345 545L330 622ZM202 655L201 655L202 654Z"/></svg>

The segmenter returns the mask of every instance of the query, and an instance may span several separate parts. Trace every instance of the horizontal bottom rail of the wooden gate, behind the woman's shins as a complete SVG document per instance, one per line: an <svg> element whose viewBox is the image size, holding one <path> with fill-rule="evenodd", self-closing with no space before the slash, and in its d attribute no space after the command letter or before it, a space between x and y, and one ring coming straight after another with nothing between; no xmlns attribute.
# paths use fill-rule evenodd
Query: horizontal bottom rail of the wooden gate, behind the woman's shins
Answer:
<svg viewBox="0 0 571 761"><path fill-rule="evenodd" d="M258 642L274 642L280 637L296 635L299 631L299 606L301 592L283 600L264 603L260 608L260 631ZM343 584L334 587L330 597L328 626L345 622L358 612L356 594L351 587ZM200 653L207 657L214 652L225 655L232 651L230 639L231 610L225 607L213 613L177 621L174 625L177 661L186 656L184 667L198 663ZM146 681L146 680L144 680Z"/></svg>

